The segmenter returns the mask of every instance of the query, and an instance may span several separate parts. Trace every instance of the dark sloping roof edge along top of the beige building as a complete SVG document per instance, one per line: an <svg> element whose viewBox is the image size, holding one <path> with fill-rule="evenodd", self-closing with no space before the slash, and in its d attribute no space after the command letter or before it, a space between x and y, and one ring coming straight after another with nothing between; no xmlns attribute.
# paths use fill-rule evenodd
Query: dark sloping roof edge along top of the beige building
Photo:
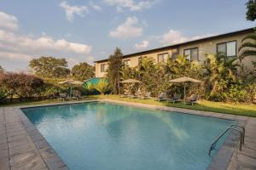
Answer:
<svg viewBox="0 0 256 170"><path fill-rule="evenodd" d="M233 36L233 35L237 35L237 34L241 34L241 33L253 32L253 31L254 31L254 28L247 28L245 30L232 31L232 32L224 33L224 34L219 34L219 35L216 35L216 36L204 37L204 38L201 38L201 39L196 39L196 40L192 40L192 41L189 41L189 42L181 42L181 43L169 45L169 46L162 47L162 48L153 48L153 49L149 49L149 50L146 50L146 51L141 51L141 52L137 52L137 53L133 53L133 54L126 54L126 55L123 56L123 59L130 58L132 56L137 56L137 55L143 55L143 54L153 53L153 52L157 52L157 51L168 50L170 48L177 48L181 45L188 45L188 44L195 43L195 42L205 42L207 40L218 39L220 37L229 37L229 36ZM106 61L108 61L108 59L100 59L100 60L96 60L94 62L106 62Z"/></svg>

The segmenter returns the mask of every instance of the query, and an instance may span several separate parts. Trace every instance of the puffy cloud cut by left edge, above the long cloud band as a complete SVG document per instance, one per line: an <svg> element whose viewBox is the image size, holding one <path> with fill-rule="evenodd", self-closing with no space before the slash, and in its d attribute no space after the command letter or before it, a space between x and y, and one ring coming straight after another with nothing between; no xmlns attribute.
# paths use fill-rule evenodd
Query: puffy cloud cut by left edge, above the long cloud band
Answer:
<svg viewBox="0 0 256 170"><path fill-rule="evenodd" d="M18 29L18 20L15 16L0 11L0 28L15 31Z"/></svg>

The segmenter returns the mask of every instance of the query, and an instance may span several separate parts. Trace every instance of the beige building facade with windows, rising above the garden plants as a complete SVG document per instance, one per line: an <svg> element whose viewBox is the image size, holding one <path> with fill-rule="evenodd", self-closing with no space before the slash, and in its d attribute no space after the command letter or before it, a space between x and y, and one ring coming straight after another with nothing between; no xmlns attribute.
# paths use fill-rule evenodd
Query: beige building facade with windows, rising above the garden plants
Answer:
<svg viewBox="0 0 256 170"><path fill-rule="evenodd" d="M180 54L190 61L196 60L203 64L207 59L207 54L222 53L226 54L227 57L237 56L241 40L251 33L253 33L253 28L182 42L163 48L154 48L135 54L127 54L123 56L123 62L124 65L135 67L139 64L140 59L144 57L150 57L154 59L155 63L160 63L166 62L169 58L175 59L177 54ZM256 56L249 56L243 59L242 63L250 69L253 68L252 61L256 61ZM108 59L97 60L95 63L96 77L105 77L108 70Z"/></svg>

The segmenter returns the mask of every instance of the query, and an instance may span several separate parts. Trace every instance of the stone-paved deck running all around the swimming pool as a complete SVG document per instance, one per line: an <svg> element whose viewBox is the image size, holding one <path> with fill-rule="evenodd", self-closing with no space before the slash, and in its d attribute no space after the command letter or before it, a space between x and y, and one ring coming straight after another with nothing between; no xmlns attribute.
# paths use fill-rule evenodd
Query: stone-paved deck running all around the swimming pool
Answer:
<svg viewBox="0 0 256 170"><path fill-rule="evenodd" d="M84 102L113 102L122 105L132 105L157 109L162 111L177 111L198 116L237 120L246 128L245 144L238 150L236 138L227 139L208 169L240 170L256 169L256 118L247 116L226 115L215 112L179 109L167 106L146 105L111 99L100 99L79 102L65 102L51 105L66 105ZM29 105L0 108L0 169L1 170L44 170L68 169L61 157L51 148L38 129L28 120L20 108L45 106ZM212 141L213 142L213 141ZM234 147L234 144L236 147Z"/></svg>

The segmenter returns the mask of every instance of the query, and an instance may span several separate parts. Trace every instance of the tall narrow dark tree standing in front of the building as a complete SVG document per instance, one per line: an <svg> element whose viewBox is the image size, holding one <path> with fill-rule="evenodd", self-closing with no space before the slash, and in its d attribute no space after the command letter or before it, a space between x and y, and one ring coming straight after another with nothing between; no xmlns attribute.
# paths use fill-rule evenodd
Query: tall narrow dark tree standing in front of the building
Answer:
<svg viewBox="0 0 256 170"><path fill-rule="evenodd" d="M108 59L108 78L110 86L113 88L113 94L118 93L118 82L120 81L120 71L122 69L123 54L120 48L116 48L114 53Z"/></svg>

